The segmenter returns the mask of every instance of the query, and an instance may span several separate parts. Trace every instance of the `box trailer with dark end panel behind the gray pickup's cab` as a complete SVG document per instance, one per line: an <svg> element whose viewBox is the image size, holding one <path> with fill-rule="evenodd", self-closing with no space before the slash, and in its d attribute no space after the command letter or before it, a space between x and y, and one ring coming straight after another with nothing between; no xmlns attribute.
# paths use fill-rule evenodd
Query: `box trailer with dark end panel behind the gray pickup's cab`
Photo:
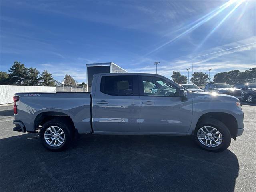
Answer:
<svg viewBox="0 0 256 192"><path fill-rule="evenodd" d="M120 66L110 63L88 63L87 68L87 91L91 90L93 75L97 73L127 73Z"/></svg>

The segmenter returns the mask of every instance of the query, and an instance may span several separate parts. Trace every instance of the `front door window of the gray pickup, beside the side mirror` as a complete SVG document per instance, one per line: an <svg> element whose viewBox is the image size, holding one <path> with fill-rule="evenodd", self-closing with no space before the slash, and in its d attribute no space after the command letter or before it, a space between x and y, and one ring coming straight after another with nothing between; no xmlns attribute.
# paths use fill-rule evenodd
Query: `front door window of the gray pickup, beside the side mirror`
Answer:
<svg viewBox="0 0 256 192"><path fill-rule="evenodd" d="M177 96L177 89L158 77L142 76L143 91L146 96Z"/></svg>

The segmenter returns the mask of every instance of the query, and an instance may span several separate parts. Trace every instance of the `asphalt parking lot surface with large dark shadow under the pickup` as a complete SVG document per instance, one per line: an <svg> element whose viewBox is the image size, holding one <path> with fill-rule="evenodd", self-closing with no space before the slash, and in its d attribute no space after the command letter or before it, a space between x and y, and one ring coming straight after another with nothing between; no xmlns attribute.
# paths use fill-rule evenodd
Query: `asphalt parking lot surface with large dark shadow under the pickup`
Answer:
<svg viewBox="0 0 256 192"><path fill-rule="evenodd" d="M244 134L221 153L189 136L114 135L50 152L12 131L12 106L0 106L0 191L256 191L256 106L242 109Z"/></svg>

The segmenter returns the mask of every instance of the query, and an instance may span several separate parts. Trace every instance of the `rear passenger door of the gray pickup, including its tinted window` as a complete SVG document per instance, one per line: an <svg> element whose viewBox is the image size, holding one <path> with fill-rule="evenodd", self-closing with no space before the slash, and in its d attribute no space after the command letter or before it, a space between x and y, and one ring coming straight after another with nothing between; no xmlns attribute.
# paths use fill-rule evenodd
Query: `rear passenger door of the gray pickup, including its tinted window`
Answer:
<svg viewBox="0 0 256 192"><path fill-rule="evenodd" d="M100 76L97 80L93 113L95 133L138 132L140 97L137 76L118 74Z"/></svg>

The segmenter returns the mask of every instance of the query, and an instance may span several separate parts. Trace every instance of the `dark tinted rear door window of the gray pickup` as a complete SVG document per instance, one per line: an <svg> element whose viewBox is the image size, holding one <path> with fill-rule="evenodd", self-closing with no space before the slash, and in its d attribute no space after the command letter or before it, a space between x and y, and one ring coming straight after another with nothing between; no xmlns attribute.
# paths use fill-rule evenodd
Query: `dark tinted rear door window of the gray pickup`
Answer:
<svg viewBox="0 0 256 192"><path fill-rule="evenodd" d="M109 95L134 95L134 76L103 76L100 91Z"/></svg>

